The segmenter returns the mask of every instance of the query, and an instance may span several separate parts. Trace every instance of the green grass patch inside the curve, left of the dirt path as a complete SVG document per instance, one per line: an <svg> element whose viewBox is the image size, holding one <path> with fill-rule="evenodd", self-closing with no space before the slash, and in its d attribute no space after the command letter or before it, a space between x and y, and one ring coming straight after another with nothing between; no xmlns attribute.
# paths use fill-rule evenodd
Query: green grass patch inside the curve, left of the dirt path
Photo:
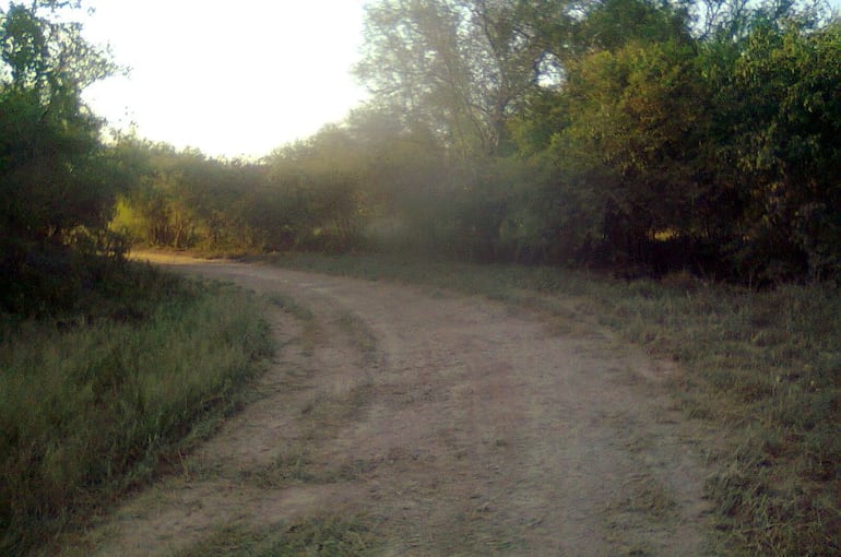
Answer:
<svg viewBox="0 0 841 557"><path fill-rule="evenodd" d="M79 315L0 321L0 554L177 462L270 349L247 295L143 265Z"/></svg>

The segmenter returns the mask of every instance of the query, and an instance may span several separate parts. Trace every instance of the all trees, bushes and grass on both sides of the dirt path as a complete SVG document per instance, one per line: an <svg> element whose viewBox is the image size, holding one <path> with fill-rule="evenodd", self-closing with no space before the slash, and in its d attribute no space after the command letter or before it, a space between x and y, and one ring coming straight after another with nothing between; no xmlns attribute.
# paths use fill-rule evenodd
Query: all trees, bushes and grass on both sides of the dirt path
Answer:
<svg viewBox="0 0 841 557"><path fill-rule="evenodd" d="M371 1L354 69L371 100L257 162L105 141L81 93L123 70L74 5L0 8L3 549L154 469L265 349L238 294L128 265L140 245L333 254L550 311L582 296L575 311L686 369L682 404L722 428L710 494L737 547L841 550L841 22L824 4ZM178 366L208 336L215 394L166 398L192 393Z"/></svg>

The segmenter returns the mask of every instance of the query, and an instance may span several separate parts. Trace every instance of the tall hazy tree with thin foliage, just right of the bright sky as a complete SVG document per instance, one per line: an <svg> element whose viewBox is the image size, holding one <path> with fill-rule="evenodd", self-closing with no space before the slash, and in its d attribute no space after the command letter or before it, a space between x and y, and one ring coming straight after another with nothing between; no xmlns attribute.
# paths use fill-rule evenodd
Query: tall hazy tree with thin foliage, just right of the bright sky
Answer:
<svg viewBox="0 0 841 557"><path fill-rule="evenodd" d="M461 156L499 154L519 103L549 73L549 0L383 0L368 8L356 68L375 103Z"/></svg>

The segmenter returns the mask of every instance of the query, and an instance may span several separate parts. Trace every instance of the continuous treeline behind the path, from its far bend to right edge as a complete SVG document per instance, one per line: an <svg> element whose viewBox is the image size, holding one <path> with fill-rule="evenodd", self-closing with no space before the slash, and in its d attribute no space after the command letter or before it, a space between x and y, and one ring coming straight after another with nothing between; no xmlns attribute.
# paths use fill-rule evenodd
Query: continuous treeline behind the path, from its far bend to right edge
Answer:
<svg viewBox="0 0 841 557"><path fill-rule="evenodd" d="M366 42L369 105L259 163L123 142L144 166L117 227L751 284L841 273L841 25L817 5L388 0Z"/></svg>

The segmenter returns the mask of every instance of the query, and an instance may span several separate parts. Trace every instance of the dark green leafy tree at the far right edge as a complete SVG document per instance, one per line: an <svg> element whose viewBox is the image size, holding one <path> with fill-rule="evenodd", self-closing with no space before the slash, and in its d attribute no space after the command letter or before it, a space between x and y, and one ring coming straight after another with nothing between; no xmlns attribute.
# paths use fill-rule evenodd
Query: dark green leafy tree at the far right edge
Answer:
<svg viewBox="0 0 841 557"><path fill-rule="evenodd" d="M745 203L734 256L760 280L841 271L841 25L810 26L759 25L727 84L738 123L724 154Z"/></svg>

